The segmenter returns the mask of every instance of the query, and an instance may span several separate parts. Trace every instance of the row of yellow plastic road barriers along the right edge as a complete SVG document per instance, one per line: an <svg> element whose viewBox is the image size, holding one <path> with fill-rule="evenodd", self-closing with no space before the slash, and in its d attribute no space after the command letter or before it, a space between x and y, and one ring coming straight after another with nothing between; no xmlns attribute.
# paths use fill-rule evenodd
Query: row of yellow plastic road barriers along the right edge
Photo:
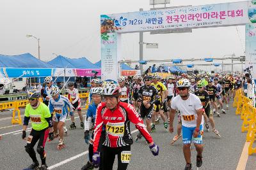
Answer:
<svg viewBox="0 0 256 170"><path fill-rule="evenodd" d="M252 100L243 96L241 89L236 91L233 106L236 107L236 115L240 115L243 120L241 126L242 132L247 132L246 141L250 142L248 154L256 153L256 147L253 148L253 143L256 143L256 108L253 107Z"/></svg>

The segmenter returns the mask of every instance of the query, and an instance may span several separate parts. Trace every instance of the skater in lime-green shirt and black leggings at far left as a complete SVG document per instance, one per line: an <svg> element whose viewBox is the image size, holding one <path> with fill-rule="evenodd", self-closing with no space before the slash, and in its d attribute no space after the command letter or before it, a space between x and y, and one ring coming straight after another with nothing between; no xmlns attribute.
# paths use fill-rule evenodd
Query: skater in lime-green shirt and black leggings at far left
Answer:
<svg viewBox="0 0 256 170"><path fill-rule="evenodd" d="M52 117L49 108L41 103L39 100L41 92L39 90L33 89L28 92L28 101L24 114L24 123L22 127L22 139L26 139L26 130L28 127L29 119L31 120L32 130L28 136L27 145L25 146L26 152L29 157L33 160L33 164L28 167L28 169L47 169L47 164L45 163L45 142L47 137L53 139L52 130ZM39 140L39 141L38 141ZM34 146L38 141L36 151L40 155L42 165L39 167L38 160L36 159L36 153Z"/></svg>

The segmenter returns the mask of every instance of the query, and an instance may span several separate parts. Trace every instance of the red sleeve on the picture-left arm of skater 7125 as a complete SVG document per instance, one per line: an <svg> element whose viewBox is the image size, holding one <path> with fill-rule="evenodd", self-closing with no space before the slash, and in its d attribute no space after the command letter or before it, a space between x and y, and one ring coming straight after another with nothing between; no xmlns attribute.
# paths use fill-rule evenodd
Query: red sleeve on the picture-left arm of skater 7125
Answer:
<svg viewBox="0 0 256 170"><path fill-rule="evenodd" d="M93 152L97 152L99 140L102 132L103 119L101 117L102 104L99 104L96 111L95 125L94 125L94 138L93 138Z"/></svg>

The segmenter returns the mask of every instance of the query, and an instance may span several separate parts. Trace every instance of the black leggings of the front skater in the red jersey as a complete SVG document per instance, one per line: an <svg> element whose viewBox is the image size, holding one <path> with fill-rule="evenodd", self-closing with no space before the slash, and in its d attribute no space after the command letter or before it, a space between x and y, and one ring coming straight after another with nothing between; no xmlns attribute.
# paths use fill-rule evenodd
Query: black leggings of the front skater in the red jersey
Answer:
<svg viewBox="0 0 256 170"><path fill-rule="evenodd" d="M128 162L122 163L121 160L121 153L122 152L131 152L131 145L128 146L122 146L118 148L110 148L108 146L102 146L102 164L103 164L103 170L111 170L113 169L113 164L115 162L115 156L117 155L118 159L118 167L117 170L125 170L127 169ZM123 152L123 153L124 153ZM130 155L131 156L131 155Z"/></svg>

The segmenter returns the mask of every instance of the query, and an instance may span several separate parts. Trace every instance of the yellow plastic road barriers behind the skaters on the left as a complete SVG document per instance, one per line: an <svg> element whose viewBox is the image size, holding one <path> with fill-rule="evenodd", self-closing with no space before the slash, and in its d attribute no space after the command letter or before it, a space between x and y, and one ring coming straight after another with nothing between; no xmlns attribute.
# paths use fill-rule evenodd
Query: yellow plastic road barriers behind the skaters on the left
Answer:
<svg viewBox="0 0 256 170"><path fill-rule="evenodd" d="M67 95L63 95L67 96ZM81 93L79 94L80 99L85 99L84 108L82 110L88 109L88 93ZM40 101L42 101L42 98L40 98ZM20 118L20 110L19 108L25 107L28 104L28 100L20 100L20 101L11 101L6 103L0 103L0 110L12 110L12 124L22 124L22 120ZM17 112L17 116L16 116Z"/></svg>

